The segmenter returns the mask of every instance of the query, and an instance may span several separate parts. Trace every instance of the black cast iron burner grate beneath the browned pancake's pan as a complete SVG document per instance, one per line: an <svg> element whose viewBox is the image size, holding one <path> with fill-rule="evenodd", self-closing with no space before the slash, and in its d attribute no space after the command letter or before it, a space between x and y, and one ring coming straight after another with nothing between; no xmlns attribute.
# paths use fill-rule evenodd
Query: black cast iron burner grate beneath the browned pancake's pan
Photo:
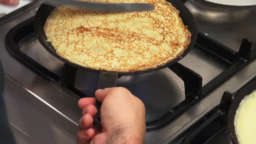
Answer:
<svg viewBox="0 0 256 144"><path fill-rule="evenodd" d="M61 76L58 76L52 71L43 67L43 65L34 61L34 59L27 56L19 49L20 41L28 35L34 34L33 22L34 17L31 17L30 19L13 27L8 32L5 39L7 50L15 58L18 58L21 62L28 65L28 67L37 71L37 73L56 83L56 85L65 89L66 91L71 92L75 97L87 97L87 95L74 87L77 68L65 64L62 69ZM185 67L180 63L175 63L168 67L184 81L185 100L174 107L174 109L167 111L166 114L159 119L147 122L147 130L161 128L164 125L170 123L177 116L181 115L182 112L188 110L191 106L205 98L208 93L220 86L224 81L229 79L229 77L234 75L241 68L245 67L246 64L251 62L252 59L255 59L256 57L256 50L252 50L252 43L247 39L242 40L240 50L235 52L229 49L229 47L226 47L218 43L216 40L213 40L199 32L195 47L210 53L210 55L220 59L220 61L229 65L229 67L224 70L223 73L219 74L210 82L206 83L206 85L203 87L202 77L195 73L193 70Z"/></svg>

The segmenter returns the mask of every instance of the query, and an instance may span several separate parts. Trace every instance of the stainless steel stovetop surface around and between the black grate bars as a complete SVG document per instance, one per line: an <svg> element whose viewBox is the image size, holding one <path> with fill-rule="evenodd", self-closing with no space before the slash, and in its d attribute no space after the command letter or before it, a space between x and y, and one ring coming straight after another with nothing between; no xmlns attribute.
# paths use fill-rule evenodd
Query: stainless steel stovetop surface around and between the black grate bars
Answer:
<svg viewBox="0 0 256 144"><path fill-rule="evenodd" d="M29 68L11 55L5 45L8 31L34 16L39 5L39 1L33 2L26 9L19 9L14 15L5 16L4 21L0 21L0 58L5 70L4 98L9 121L18 143L75 143L81 116L77 106L79 97L61 88L51 78L45 79L42 74ZM186 5L192 13L200 10L196 9L194 1L188 1ZM195 18L198 19L199 31L238 51L242 38L251 39L253 44L256 41L253 32L256 7L250 9L243 19L228 24L211 23L196 14ZM211 13L214 15L214 11ZM61 76L63 63L40 45L34 33L19 41L18 47L46 69ZM202 86L229 67L199 48L191 50L179 63L201 75ZM224 91L236 91L255 75L254 60L164 127L147 131L146 143L173 143L179 134L219 104ZM94 97L97 81L98 74L78 70L75 87L87 96ZM185 99L184 82L168 68L149 74L123 76L118 80L118 86L130 89L146 104L147 122L165 115L166 111L172 110Z"/></svg>

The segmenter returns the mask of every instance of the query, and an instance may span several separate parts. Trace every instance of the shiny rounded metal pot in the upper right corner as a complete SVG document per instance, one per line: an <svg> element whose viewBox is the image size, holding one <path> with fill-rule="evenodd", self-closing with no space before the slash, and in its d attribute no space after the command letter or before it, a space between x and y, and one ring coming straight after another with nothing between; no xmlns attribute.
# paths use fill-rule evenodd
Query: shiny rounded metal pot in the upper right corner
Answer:
<svg viewBox="0 0 256 144"><path fill-rule="evenodd" d="M231 6L211 3L203 0L189 0L185 3L197 21L211 23L231 23L245 19L255 6Z"/></svg>

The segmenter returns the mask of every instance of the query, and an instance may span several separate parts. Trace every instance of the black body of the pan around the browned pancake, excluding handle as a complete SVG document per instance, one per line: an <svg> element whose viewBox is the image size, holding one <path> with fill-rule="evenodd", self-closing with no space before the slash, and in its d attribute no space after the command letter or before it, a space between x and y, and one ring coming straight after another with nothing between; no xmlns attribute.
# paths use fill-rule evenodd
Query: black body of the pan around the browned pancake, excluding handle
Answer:
<svg viewBox="0 0 256 144"><path fill-rule="evenodd" d="M133 71L133 72L127 72L127 73L126 72L125 73L120 72L120 73L118 73L119 76L149 73L151 71L156 71L156 70L159 70L159 69L162 69L162 68L166 68L169 65L178 62L185 55L187 55L188 52L193 48L193 46L196 42L196 38L197 38L197 28L196 28L195 19L194 19L193 15L190 13L188 8L185 7L185 5L182 2L180 2L178 0L168 0L168 2L172 3L172 5L180 11L179 15L181 16L184 24L186 26L188 26L188 29L192 34L191 42L190 42L188 48L184 51L184 53L181 56L174 59L174 61L172 61L170 63L167 63L165 65L162 65L158 68L153 68L153 69L149 69L149 70L142 70L142 71ZM44 46L44 48L47 51L49 51L55 57L59 58L61 61L65 62L67 64L70 64L73 67L76 67L76 68L79 68L79 69L86 69L86 70L89 70L89 71L100 73L102 70L96 70L96 69L90 69L90 68L82 67L80 65L74 64L74 63L69 62L66 59L60 57L59 55L57 55L54 47L48 41L46 41L47 38L46 38L46 35L44 33L44 25L45 25L46 19L49 17L49 15L51 14L51 12L53 10L54 10L54 7L52 7L50 5L46 5L46 4L40 5L39 9L37 10L36 17L35 17L35 22L34 22L34 29L36 31L39 42Z"/></svg>

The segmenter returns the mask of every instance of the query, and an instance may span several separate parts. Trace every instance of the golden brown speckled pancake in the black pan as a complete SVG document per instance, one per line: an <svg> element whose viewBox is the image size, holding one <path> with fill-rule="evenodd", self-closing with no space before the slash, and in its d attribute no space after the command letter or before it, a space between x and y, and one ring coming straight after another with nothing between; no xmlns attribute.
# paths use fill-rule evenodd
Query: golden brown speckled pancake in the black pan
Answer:
<svg viewBox="0 0 256 144"><path fill-rule="evenodd" d="M159 67L187 49L191 33L170 3L164 0L101 2L150 2L155 10L104 13L57 7L44 29L58 55L91 69L129 72Z"/></svg>

